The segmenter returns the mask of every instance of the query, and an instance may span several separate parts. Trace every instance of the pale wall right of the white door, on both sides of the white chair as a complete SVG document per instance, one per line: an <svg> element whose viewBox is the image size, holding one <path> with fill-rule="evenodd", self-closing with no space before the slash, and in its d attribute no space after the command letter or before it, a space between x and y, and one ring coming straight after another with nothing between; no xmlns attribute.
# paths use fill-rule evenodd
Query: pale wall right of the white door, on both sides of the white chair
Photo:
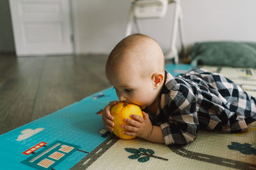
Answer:
<svg viewBox="0 0 256 170"><path fill-rule="evenodd" d="M196 41L256 41L255 0L181 0L184 15L184 43ZM109 53L124 38L131 1L76 0L77 53ZM143 33L170 46L173 7L160 20L143 20ZM179 43L179 41L177 42Z"/></svg>

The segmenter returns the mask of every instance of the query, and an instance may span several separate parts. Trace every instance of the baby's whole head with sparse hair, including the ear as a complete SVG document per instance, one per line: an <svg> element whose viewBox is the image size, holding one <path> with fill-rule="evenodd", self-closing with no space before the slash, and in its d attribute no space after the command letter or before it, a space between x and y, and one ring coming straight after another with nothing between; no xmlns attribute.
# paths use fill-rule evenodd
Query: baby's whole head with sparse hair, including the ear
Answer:
<svg viewBox="0 0 256 170"><path fill-rule="evenodd" d="M164 55L159 44L143 34L122 39L111 51L106 76L120 101L150 106L163 86Z"/></svg>

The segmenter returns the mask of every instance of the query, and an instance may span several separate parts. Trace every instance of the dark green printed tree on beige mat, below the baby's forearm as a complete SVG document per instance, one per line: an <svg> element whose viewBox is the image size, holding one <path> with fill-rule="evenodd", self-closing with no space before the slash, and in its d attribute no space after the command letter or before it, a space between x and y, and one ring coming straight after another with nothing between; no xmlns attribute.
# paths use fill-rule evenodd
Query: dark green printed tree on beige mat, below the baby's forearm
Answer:
<svg viewBox="0 0 256 170"><path fill-rule="evenodd" d="M129 159L138 159L139 162L147 162L149 160L150 157L154 157L156 159L162 159L162 160L168 160L168 159L164 159L162 157L157 157L154 155L154 150L150 150L150 149L145 149L145 148L139 148L139 149L135 149L135 148L125 148L126 152L129 153L133 153L132 155L130 155L128 158ZM143 156L143 157L141 157Z"/></svg>

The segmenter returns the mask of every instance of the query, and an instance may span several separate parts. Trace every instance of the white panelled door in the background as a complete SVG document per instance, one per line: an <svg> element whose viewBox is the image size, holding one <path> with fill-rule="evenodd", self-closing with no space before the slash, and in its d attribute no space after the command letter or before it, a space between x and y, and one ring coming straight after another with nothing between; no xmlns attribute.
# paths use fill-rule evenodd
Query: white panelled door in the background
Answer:
<svg viewBox="0 0 256 170"><path fill-rule="evenodd" d="M17 56L73 53L69 0L9 0Z"/></svg>

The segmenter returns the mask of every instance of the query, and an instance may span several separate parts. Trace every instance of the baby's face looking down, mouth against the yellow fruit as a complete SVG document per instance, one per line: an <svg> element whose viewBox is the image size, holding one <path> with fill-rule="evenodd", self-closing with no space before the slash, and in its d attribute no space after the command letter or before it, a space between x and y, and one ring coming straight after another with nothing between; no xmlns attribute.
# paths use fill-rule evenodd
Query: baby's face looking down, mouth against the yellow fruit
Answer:
<svg viewBox="0 0 256 170"><path fill-rule="evenodd" d="M110 71L107 74L109 83L115 87L119 101L134 103L141 110L150 106L157 95L150 76L142 77L131 69Z"/></svg>

